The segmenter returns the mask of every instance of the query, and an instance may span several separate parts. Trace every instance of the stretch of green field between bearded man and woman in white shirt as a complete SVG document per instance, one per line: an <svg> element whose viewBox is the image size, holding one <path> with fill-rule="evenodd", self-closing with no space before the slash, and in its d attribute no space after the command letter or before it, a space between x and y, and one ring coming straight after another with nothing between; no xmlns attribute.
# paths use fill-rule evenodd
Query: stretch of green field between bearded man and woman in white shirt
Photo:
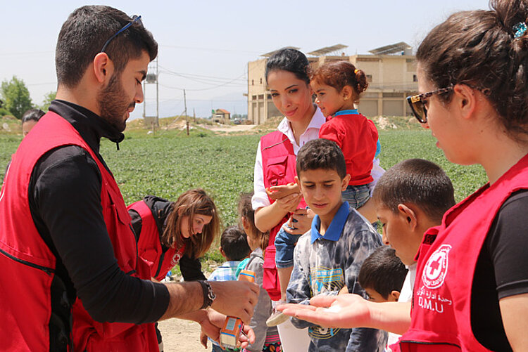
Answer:
<svg viewBox="0 0 528 352"><path fill-rule="evenodd" d="M104 140L101 154L118 181L125 203L145 195L176 200L185 190L204 188L214 198L224 226L236 223L239 194L253 188L259 136L204 133L193 129L187 137L177 130L158 136L137 132L120 143L119 151Z"/></svg>

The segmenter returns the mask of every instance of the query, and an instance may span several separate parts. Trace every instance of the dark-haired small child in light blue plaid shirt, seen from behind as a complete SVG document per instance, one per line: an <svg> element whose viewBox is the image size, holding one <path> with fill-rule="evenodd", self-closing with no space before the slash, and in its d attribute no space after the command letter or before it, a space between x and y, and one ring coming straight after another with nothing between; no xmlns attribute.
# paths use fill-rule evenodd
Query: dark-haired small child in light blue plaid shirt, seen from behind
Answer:
<svg viewBox="0 0 528 352"><path fill-rule="evenodd" d="M224 230L220 237L220 253L225 258L225 263L216 268L213 273L210 274L208 281L228 281L237 280L235 272L237 266L242 259L249 256L251 249L248 246L246 240L246 233L244 233L238 226L230 226ZM203 339L203 333L201 335L201 341ZM213 352L220 351L232 351L229 348L222 350L218 342L210 340L213 344ZM235 351L239 351L238 349Z"/></svg>

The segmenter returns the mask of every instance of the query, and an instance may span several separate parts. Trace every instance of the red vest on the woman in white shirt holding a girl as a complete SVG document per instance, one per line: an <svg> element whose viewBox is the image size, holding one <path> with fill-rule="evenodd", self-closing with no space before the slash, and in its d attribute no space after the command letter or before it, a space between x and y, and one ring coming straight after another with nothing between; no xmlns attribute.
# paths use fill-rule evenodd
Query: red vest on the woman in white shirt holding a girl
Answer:
<svg viewBox="0 0 528 352"><path fill-rule="evenodd" d="M260 138L260 151L262 153L262 171L264 176L265 188L272 185L286 185L295 182L296 156L294 146L284 133L275 131L268 133ZM275 200L270 199L270 202ZM306 203L301 200L298 205L305 208ZM280 299L280 283L277 276L277 267L275 266L275 236L281 226L288 221L289 214L270 230L270 241L264 251L264 277L262 287L268 291L272 301Z"/></svg>

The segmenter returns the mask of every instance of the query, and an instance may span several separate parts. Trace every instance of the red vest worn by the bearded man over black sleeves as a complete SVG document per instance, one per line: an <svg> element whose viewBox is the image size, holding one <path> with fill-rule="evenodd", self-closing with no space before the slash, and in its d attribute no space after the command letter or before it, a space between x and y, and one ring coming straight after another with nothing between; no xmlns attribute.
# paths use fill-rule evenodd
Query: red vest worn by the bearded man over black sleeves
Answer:
<svg viewBox="0 0 528 352"><path fill-rule="evenodd" d="M125 273L148 278L146 267L138 265L130 216L112 174L70 123L48 112L20 143L0 191L1 351L49 351L50 287L56 258L31 221L28 185L40 157L62 145L78 145L95 160L115 258ZM158 351L153 324L96 322L79 299L72 314L76 351Z"/></svg>

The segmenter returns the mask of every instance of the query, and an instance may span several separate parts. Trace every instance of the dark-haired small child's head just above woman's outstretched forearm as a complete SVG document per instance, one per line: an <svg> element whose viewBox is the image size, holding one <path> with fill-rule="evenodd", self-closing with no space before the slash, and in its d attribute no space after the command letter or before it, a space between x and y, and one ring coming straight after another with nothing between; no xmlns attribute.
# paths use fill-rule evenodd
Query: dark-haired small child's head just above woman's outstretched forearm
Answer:
<svg viewBox="0 0 528 352"><path fill-rule="evenodd" d="M372 302L395 302L400 296L407 269L389 246L376 249L359 270L359 285Z"/></svg>

